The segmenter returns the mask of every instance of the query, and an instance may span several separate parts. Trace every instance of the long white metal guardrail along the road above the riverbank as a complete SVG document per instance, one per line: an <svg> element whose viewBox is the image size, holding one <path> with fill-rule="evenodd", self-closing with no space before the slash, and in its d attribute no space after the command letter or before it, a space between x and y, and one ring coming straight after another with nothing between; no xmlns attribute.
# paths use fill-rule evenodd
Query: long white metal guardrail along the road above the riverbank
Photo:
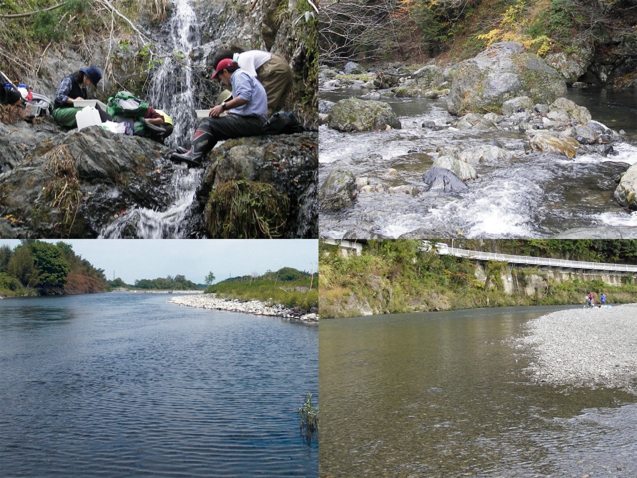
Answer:
<svg viewBox="0 0 637 478"><path fill-rule="evenodd" d="M480 261L500 261L515 264L534 264L538 266L566 267L571 269L608 270L616 272L637 272L637 266L628 264L608 264L596 262L564 261L563 259L548 259L547 257L511 256L509 254L493 254L477 250L457 249L457 247L436 247L439 254L457 257L468 257Z"/></svg>

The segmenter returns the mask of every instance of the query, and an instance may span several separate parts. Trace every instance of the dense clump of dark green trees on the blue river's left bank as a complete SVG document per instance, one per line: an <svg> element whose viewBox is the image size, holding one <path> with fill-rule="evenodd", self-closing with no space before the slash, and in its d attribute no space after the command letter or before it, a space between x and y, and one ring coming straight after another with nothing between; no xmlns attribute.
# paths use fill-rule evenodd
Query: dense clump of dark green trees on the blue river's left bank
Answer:
<svg viewBox="0 0 637 478"><path fill-rule="evenodd" d="M84 294L109 290L104 270L65 242L23 240L0 247L0 295Z"/></svg>

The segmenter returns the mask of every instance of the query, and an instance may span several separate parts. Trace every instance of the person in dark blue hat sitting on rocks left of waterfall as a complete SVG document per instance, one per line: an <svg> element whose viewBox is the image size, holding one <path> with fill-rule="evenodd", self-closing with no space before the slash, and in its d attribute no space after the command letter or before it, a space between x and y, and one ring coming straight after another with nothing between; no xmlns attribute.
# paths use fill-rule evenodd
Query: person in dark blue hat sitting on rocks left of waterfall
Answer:
<svg viewBox="0 0 637 478"><path fill-rule="evenodd" d="M90 86L97 88L97 83L102 79L102 72L97 66L89 66L89 68L80 68L72 75L65 76L57 87L55 92L55 102L53 105L53 113L55 121L62 126L77 127L75 114L82 111L82 108L75 108L73 101L76 99L87 99L88 88ZM99 111L99 117L102 122L112 120L113 118L96 106Z"/></svg>

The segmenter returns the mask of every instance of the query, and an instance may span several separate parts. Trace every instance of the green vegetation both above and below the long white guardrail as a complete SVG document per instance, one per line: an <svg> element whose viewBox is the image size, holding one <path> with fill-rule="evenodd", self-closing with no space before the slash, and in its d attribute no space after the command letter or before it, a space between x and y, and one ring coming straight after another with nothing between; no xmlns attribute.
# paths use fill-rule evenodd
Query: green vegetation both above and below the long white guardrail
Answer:
<svg viewBox="0 0 637 478"><path fill-rule="evenodd" d="M361 256L343 257L335 246L320 244L320 316L349 317L416 310L508 305L583 303L583 296L605 292L608 303L637 301L630 277L621 286L578 275L556 280L536 268L468 259L420 250L419 240L369 240ZM458 240L455 247L571 260L637 263L636 240ZM514 292L505 290L510 273Z"/></svg>

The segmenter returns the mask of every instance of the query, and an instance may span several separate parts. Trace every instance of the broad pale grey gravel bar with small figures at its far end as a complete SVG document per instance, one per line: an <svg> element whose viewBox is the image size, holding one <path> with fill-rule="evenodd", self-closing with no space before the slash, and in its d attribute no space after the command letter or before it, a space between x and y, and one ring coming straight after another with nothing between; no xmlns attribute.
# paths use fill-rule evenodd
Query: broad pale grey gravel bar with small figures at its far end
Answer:
<svg viewBox="0 0 637 478"><path fill-rule="evenodd" d="M637 393L637 304L561 310L527 326L518 343L533 351L534 380Z"/></svg>

